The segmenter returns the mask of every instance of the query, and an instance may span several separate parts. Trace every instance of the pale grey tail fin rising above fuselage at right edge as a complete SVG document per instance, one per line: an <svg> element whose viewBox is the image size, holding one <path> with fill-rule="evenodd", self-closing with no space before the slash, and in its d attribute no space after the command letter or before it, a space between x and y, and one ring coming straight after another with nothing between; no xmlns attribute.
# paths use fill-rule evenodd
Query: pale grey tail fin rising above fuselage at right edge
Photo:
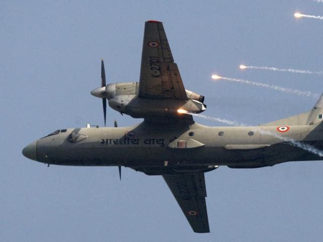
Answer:
<svg viewBox="0 0 323 242"><path fill-rule="evenodd" d="M314 107L305 113L286 117L274 122L259 126L283 126L283 125L314 125L323 120L323 94L319 97Z"/></svg>

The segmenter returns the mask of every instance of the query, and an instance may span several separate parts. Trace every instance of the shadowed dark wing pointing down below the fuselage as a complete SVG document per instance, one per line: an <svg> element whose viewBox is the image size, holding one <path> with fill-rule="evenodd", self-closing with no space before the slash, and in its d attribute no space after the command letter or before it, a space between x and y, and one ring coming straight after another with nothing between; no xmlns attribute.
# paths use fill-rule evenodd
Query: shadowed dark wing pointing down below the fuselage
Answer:
<svg viewBox="0 0 323 242"><path fill-rule="evenodd" d="M208 233L204 173L163 175L194 232Z"/></svg>

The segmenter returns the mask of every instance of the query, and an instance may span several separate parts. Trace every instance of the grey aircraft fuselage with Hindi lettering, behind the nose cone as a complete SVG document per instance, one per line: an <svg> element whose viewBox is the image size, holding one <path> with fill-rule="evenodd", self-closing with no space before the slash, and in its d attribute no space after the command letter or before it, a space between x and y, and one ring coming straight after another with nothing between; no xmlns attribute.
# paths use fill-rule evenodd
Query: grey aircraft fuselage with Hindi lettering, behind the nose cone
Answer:
<svg viewBox="0 0 323 242"><path fill-rule="evenodd" d="M233 168L320 159L278 136L317 148L323 140L318 125L290 126L288 132L280 133L277 127L207 127L196 123L152 126L142 122L123 128L68 129L41 138L34 143L34 159L76 166Z"/></svg>

